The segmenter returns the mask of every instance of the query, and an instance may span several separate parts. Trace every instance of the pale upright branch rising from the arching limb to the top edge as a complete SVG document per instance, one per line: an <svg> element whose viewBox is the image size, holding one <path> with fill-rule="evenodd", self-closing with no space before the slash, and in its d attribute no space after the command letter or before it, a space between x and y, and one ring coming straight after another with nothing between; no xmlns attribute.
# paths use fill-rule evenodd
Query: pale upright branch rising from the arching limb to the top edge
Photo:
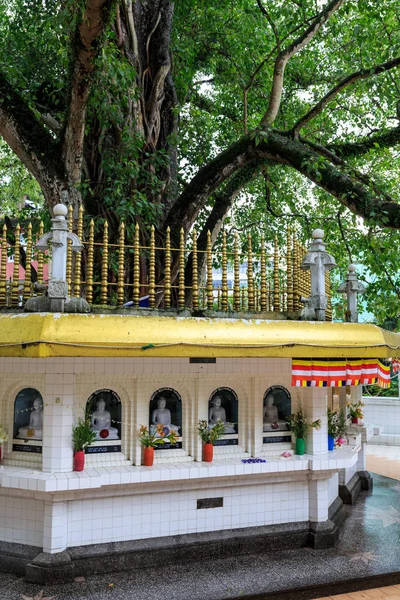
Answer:
<svg viewBox="0 0 400 600"><path fill-rule="evenodd" d="M317 15L309 27L297 37L289 46L282 50L275 61L274 76L272 81L272 90L269 99L269 105L265 115L261 120L261 125L272 125L278 114L285 68L289 60L302 50L318 33L321 27L331 17L331 15L345 2L345 0L331 0L325 8Z"/></svg>

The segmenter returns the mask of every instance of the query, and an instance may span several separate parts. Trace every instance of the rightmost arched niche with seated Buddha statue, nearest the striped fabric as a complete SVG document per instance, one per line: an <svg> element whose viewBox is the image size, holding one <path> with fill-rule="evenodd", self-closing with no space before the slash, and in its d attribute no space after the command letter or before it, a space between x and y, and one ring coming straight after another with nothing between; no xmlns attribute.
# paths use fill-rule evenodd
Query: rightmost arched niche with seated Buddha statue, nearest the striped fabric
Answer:
<svg viewBox="0 0 400 600"><path fill-rule="evenodd" d="M263 442L290 442L291 434L287 419L292 412L290 392L282 385L267 389L263 398Z"/></svg>

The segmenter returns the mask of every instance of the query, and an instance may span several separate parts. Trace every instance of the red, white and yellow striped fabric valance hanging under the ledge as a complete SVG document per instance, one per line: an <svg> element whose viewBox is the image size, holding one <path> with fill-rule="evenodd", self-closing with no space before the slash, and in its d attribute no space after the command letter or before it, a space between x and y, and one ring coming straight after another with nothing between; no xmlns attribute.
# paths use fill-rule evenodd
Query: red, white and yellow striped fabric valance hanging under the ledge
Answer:
<svg viewBox="0 0 400 600"><path fill-rule="evenodd" d="M371 385L390 387L390 367L377 359L297 360L292 362L292 385L341 387Z"/></svg>

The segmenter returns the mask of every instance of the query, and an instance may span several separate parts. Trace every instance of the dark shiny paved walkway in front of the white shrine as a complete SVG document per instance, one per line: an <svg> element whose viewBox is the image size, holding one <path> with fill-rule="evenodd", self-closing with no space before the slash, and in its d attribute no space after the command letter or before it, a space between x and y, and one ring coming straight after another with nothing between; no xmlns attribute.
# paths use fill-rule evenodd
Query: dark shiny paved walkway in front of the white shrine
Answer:
<svg viewBox="0 0 400 600"><path fill-rule="evenodd" d="M395 460L387 455L375 459L378 454L371 450L368 468L373 460L378 460L375 471L397 468ZM400 454L397 448L393 452ZM302 548L78 578L47 586L43 599L42 586L0 574L0 599L400 600L400 483L377 475L374 493L361 494L345 510L346 523L334 550ZM373 589L356 591L367 587Z"/></svg>

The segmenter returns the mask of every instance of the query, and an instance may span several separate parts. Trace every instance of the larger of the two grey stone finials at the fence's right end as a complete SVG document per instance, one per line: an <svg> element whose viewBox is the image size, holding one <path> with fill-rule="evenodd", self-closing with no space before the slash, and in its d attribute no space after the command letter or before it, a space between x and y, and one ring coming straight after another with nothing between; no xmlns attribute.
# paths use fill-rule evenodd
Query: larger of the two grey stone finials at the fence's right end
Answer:
<svg viewBox="0 0 400 600"><path fill-rule="evenodd" d="M328 296L325 293L325 272L336 266L333 256L326 252L323 242L322 229L314 229L313 241L300 268L311 273L311 294L308 298L301 298L305 307L301 317L308 321L325 321L325 311L328 306Z"/></svg>

